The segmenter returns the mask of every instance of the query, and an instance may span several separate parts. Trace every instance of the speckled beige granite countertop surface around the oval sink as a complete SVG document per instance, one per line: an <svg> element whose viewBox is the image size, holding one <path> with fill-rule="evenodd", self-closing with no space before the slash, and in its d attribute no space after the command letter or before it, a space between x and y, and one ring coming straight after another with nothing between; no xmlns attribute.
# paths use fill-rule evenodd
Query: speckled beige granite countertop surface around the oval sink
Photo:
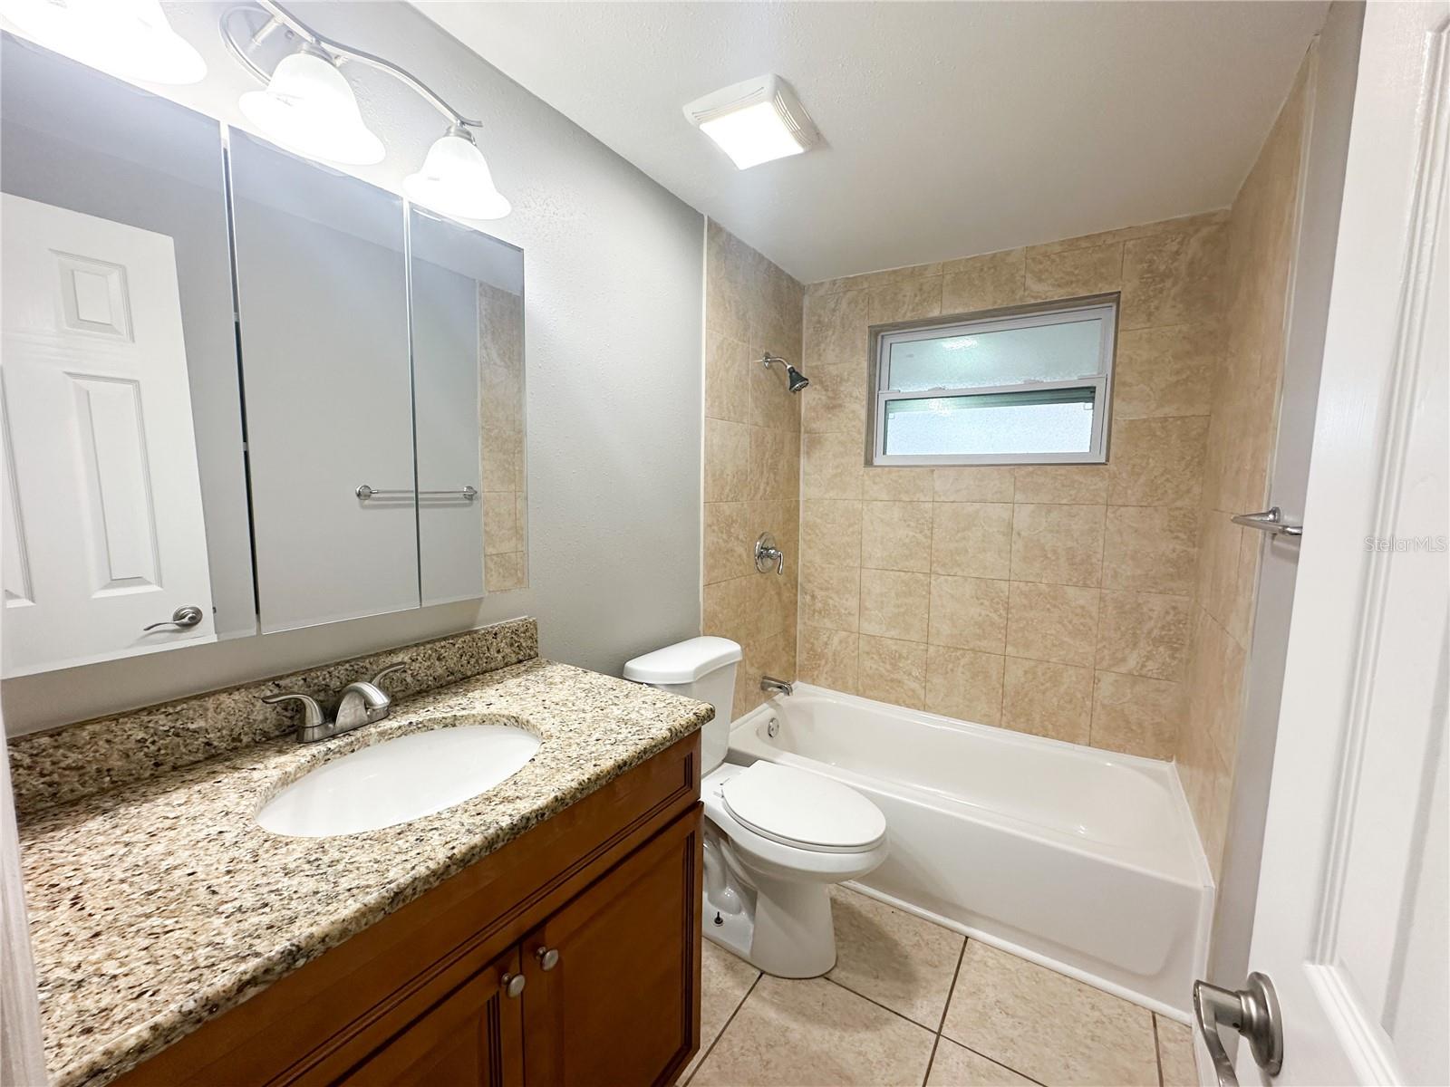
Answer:
<svg viewBox="0 0 1450 1087"><path fill-rule="evenodd" d="M284 838L257 810L315 765L409 732L519 725L513 777L409 823ZM51 807L20 826L52 1084L106 1083L644 762L709 706L532 659L400 700L322 744L286 738Z"/></svg>

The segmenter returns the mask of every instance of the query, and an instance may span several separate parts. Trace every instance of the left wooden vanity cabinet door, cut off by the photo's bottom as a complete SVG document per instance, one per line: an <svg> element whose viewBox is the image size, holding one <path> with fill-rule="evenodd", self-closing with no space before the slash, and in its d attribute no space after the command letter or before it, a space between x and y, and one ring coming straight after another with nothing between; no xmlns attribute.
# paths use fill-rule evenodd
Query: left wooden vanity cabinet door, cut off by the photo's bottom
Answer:
<svg viewBox="0 0 1450 1087"><path fill-rule="evenodd" d="M523 1010L506 980L519 971L510 948L344 1075L347 1087L518 1087L523 1083Z"/></svg>

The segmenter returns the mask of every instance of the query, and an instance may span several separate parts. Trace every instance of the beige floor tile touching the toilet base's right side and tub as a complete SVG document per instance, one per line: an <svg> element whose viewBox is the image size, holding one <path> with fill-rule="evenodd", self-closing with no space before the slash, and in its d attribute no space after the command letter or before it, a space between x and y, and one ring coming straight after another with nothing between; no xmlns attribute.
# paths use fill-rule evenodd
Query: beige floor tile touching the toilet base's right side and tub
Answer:
<svg viewBox="0 0 1450 1087"><path fill-rule="evenodd" d="M960 936L841 887L831 888L837 984L935 1030L951 996Z"/></svg>

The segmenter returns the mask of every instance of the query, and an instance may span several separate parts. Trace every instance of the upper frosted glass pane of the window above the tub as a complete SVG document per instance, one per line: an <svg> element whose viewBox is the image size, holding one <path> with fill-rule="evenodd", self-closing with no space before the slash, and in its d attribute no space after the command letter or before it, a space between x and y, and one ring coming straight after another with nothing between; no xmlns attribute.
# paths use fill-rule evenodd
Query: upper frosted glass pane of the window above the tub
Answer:
<svg viewBox="0 0 1450 1087"><path fill-rule="evenodd" d="M1102 317L996 332L957 329L889 348L887 388L976 388L1019 381L1074 381L1102 372Z"/></svg>

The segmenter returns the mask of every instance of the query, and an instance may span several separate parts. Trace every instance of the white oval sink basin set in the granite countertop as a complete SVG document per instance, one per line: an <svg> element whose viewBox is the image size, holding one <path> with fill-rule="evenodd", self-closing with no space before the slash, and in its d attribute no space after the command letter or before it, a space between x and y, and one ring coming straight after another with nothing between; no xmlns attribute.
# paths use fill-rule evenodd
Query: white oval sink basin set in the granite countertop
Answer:
<svg viewBox="0 0 1450 1087"><path fill-rule="evenodd" d="M509 725L413 732L325 762L257 813L273 833L329 838L442 812L513 777L539 749Z"/></svg>

